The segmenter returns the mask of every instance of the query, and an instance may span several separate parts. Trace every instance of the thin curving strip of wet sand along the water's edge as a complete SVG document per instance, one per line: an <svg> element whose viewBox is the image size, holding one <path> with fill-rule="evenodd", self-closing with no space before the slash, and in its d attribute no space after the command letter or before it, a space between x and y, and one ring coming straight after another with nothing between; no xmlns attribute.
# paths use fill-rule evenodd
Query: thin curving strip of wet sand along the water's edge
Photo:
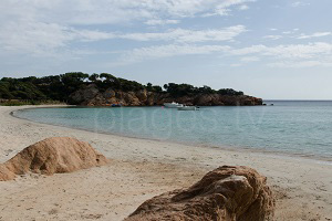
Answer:
<svg viewBox="0 0 332 221"><path fill-rule="evenodd" d="M197 148L212 148L212 149L220 149L220 150L226 150L226 151L246 151L246 152L256 152L258 155L263 155L266 157L280 157L281 159L293 159L293 160L308 160L311 162L317 162L317 164L323 164L323 165L331 165L332 166L332 159L329 157L322 157L322 156L308 156L308 155L301 155L297 152L287 152L287 151L278 151L278 150L267 150L264 148L259 148L259 147L239 147L239 146L211 146L211 145L204 145L204 144L194 144L194 143L185 143L185 141L177 141L177 140L163 140L163 139L157 139L157 138L147 138L147 137L135 137L135 136L129 136L129 135L124 135L124 134L116 134L116 133L107 133L107 131L100 131L100 130L92 130L92 129L84 129L84 128L79 128L79 127L70 127L65 125L60 125L60 124L50 124L50 123L42 123L42 122L34 122L32 119L28 119L24 117L20 117L15 115L15 112L24 110L24 109L34 109L34 108L59 108L59 107L76 107L75 105L51 105L51 106L25 106L23 108L18 108L15 110L12 110L10 115L12 117L28 120L31 123L37 123L37 124L43 124L43 125L52 125L52 126L58 126L58 127L64 127L69 129L76 129L76 130L82 130L82 131L90 131L90 133L95 133L95 134L103 134L103 135L111 135L111 136L120 136L124 138L132 138L132 139L143 139L143 140L152 140L152 141L159 141L159 143L173 143L173 144L178 144L178 145L185 145L185 146L191 146L191 147L197 147ZM103 107L102 107L103 108ZM330 159L330 160L329 160Z"/></svg>

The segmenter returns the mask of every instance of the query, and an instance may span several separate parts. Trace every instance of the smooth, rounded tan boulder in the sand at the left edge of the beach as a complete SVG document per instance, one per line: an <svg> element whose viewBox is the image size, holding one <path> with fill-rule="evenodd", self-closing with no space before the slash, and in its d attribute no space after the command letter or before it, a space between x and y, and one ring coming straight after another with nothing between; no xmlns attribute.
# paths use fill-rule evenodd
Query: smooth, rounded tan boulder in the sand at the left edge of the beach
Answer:
<svg viewBox="0 0 332 221"><path fill-rule="evenodd" d="M90 144L70 137L53 137L31 145L0 165L0 181L15 175L53 175L102 166L107 159Z"/></svg>

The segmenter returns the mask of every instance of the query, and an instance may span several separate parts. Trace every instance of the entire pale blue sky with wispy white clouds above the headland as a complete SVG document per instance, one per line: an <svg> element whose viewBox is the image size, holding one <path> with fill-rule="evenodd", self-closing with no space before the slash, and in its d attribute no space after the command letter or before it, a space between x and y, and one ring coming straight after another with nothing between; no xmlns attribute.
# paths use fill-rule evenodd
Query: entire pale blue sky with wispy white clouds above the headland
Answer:
<svg viewBox="0 0 332 221"><path fill-rule="evenodd" d="M0 77L107 72L332 99L331 9L331 0L1 0Z"/></svg>

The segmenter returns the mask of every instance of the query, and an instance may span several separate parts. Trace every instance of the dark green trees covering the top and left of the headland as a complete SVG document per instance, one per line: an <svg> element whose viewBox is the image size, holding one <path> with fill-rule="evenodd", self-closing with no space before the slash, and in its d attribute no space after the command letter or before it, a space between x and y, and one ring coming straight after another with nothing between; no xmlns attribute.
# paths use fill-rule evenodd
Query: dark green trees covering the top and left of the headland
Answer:
<svg viewBox="0 0 332 221"><path fill-rule="evenodd" d="M3 77L0 80L0 98L68 102L72 93L84 88L89 84L95 84L101 92L107 88L122 92L146 90L155 93L168 93L172 97L197 94L243 95L242 92L237 92L231 88L216 91L209 86L195 87L190 84L175 83L165 84L163 90L162 86L158 85L151 83L143 85L138 82L116 77L108 73L89 75L82 72L71 72L43 77Z"/></svg>

